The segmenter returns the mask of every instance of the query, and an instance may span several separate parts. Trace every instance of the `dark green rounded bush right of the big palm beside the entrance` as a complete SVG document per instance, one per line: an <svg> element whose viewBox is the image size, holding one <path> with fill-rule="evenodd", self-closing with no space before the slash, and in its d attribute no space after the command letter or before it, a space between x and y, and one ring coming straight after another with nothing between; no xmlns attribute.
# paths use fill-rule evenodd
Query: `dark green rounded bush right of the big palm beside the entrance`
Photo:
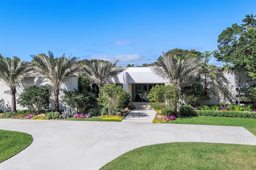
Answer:
<svg viewBox="0 0 256 170"><path fill-rule="evenodd" d="M189 105L195 107L197 106L201 101L208 101L210 100L210 97L205 95L204 87L201 84L194 83L193 85L188 85L185 87L182 87L181 93L182 93L182 100L184 100ZM207 89L208 91L208 89Z"/></svg>

